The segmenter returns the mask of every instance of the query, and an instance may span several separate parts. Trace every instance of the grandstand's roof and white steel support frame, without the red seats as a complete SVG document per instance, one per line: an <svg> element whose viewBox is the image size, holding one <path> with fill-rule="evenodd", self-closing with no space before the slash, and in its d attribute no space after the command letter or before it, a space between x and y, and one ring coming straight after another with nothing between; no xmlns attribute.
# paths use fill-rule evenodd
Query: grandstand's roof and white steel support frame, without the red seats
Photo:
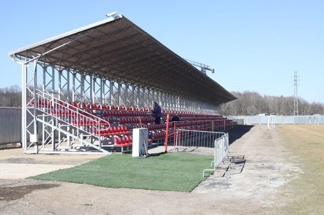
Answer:
<svg viewBox="0 0 324 215"><path fill-rule="evenodd" d="M39 152L30 136L37 135L41 119L43 130L48 126L55 130L56 123L62 123L58 118L66 117L60 113L56 120L44 121L51 99L58 99L52 105L74 102L91 113L103 105L110 105L110 110L149 109L158 101L166 110L205 114L216 114L219 104L236 99L123 15L22 47L9 56L22 67L22 141L25 151L31 153ZM36 89L43 93L37 94ZM32 123L27 124L27 118L32 118ZM52 140L47 141L56 139L55 131L48 135ZM59 152L54 146L47 150ZM98 150L107 153L100 146Z"/></svg>

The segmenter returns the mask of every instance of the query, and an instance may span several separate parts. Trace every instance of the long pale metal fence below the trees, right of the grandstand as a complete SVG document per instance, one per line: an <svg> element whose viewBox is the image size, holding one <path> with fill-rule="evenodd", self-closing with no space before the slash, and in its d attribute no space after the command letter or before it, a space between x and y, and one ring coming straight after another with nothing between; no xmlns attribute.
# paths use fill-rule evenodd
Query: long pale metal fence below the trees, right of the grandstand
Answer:
<svg viewBox="0 0 324 215"><path fill-rule="evenodd" d="M244 120L245 125L267 124L268 118L274 119L275 124L324 124L323 115L313 116L231 116Z"/></svg>

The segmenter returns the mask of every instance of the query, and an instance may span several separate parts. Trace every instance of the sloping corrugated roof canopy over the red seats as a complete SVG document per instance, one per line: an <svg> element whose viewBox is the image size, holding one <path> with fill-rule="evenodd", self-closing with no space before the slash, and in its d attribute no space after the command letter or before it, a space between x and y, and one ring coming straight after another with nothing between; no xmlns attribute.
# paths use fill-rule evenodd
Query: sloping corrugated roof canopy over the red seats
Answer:
<svg viewBox="0 0 324 215"><path fill-rule="evenodd" d="M123 15L9 52L219 105L236 99Z"/></svg>

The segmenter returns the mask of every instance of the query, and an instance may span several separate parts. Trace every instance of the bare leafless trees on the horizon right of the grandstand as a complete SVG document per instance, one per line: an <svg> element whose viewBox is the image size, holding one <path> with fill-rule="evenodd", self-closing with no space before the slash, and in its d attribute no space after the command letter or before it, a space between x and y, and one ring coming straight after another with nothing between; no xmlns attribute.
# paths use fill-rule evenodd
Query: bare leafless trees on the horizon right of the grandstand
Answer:
<svg viewBox="0 0 324 215"><path fill-rule="evenodd" d="M236 100L220 105L220 114L222 115L254 115L254 114L276 114L284 116L294 115L294 97L293 96L269 96L260 95L258 92L251 91L232 91ZM298 98L298 115L324 115L324 103L309 103L305 99Z"/></svg>

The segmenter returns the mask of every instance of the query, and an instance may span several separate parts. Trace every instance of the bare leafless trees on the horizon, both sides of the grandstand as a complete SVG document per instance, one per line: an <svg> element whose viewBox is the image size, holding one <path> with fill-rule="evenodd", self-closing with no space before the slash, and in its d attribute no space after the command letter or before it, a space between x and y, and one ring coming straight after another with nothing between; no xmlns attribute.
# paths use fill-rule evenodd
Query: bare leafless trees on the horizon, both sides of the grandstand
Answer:
<svg viewBox="0 0 324 215"><path fill-rule="evenodd" d="M257 92L231 92L236 100L220 106L222 115L253 115L275 113L276 115L294 115L294 97L260 95ZM21 88L18 85L0 88L0 106L21 107ZM298 115L324 115L324 103L309 103L298 98Z"/></svg>

